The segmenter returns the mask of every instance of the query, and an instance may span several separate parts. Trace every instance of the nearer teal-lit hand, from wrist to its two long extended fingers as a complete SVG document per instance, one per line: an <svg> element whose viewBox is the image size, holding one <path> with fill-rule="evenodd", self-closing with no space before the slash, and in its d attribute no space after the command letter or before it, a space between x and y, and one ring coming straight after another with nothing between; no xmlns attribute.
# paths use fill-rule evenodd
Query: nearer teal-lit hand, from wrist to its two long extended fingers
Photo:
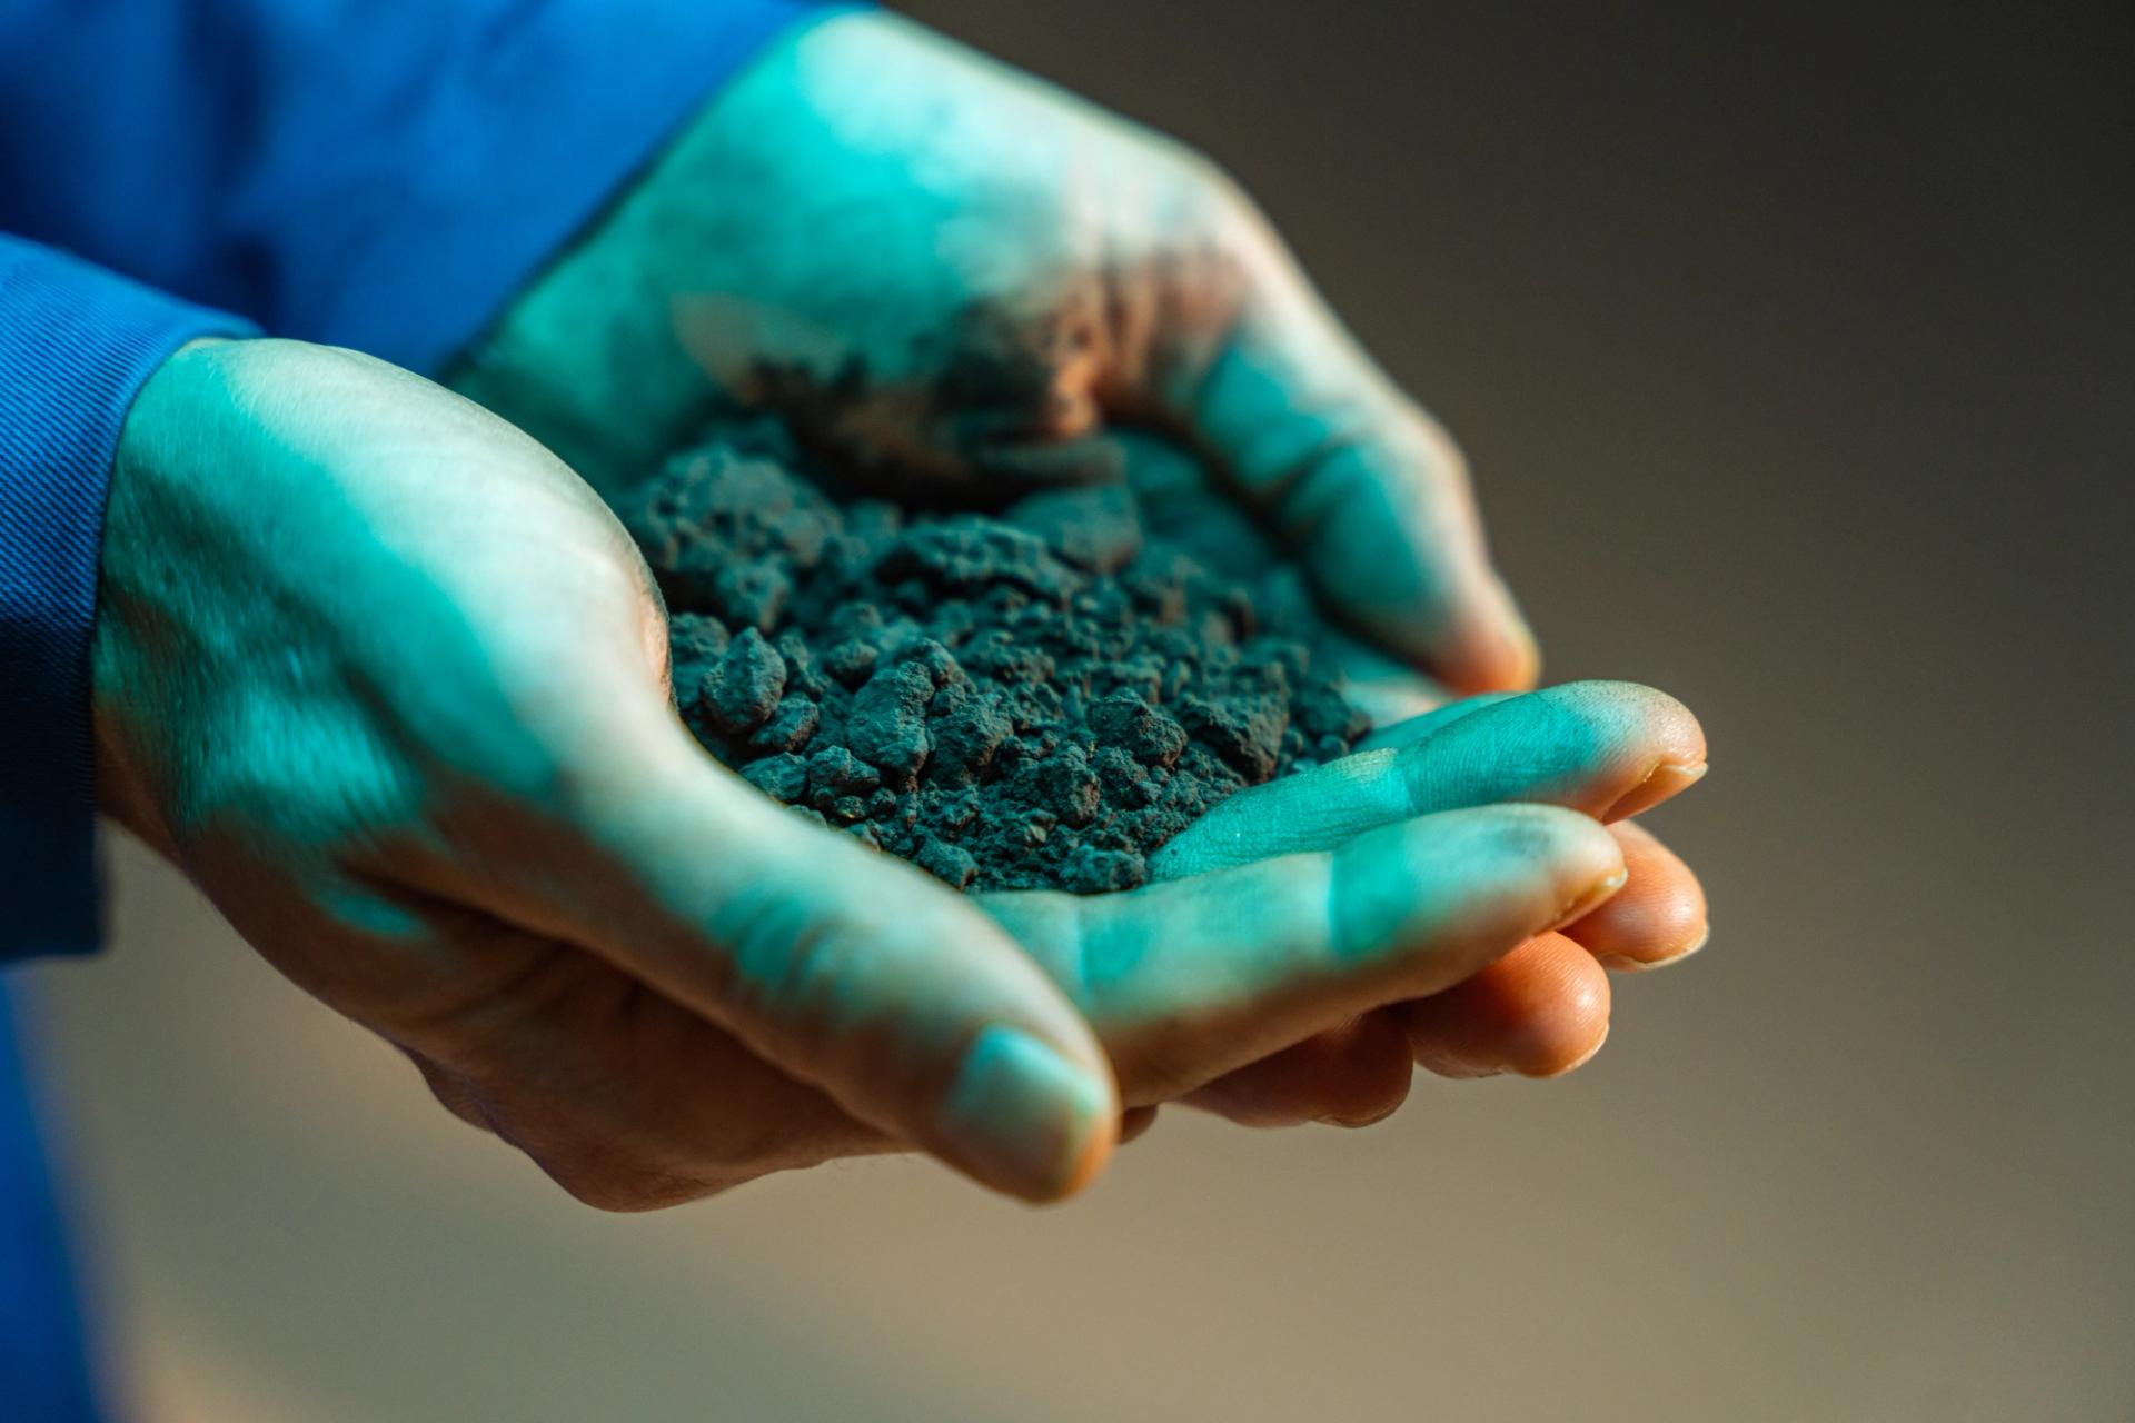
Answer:
<svg viewBox="0 0 2135 1423"><path fill-rule="evenodd" d="M1268 800L1290 830L1132 894L959 896L690 740L645 563L553 454L290 341L143 388L94 642L105 806L611 1210L884 1150L1055 1199L1123 1112L1349 1062L1625 888L1593 811L1695 723L1582 687L1324 768L1369 802L1339 826Z"/></svg>

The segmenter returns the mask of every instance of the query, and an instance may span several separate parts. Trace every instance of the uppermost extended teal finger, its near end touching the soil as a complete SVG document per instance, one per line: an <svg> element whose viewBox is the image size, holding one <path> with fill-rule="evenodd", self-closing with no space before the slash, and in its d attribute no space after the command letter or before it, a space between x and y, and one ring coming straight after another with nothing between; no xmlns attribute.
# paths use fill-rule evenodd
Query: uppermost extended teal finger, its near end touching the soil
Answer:
<svg viewBox="0 0 2135 1423"><path fill-rule="evenodd" d="M1704 774L1697 719L1633 683L1567 683L1426 717L1420 740L1362 751L1240 792L1151 858L1151 875L1185 875L1268 856L1330 849L1364 830L1435 811L1509 800L1597 819L1650 804ZM1396 732L1388 734L1396 738Z"/></svg>

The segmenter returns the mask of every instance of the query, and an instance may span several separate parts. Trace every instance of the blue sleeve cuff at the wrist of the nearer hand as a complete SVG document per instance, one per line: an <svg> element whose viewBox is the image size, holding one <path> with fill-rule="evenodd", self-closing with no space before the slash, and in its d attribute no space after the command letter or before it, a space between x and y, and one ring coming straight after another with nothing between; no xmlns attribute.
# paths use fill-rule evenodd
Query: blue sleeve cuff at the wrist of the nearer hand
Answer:
<svg viewBox="0 0 2135 1423"><path fill-rule="evenodd" d="M96 947L90 627L141 382L246 324L0 235L0 960Z"/></svg>

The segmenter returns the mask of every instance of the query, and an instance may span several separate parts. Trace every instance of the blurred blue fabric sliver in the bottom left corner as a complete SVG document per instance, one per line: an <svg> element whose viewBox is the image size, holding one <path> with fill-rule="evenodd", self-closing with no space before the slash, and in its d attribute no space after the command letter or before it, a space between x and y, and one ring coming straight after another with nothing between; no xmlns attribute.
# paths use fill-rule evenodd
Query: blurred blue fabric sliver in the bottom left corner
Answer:
<svg viewBox="0 0 2135 1423"><path fill-rule="evenodd" d="M9 998L0 973L0 1417L92 1423L102 1414Z"/></svg>

